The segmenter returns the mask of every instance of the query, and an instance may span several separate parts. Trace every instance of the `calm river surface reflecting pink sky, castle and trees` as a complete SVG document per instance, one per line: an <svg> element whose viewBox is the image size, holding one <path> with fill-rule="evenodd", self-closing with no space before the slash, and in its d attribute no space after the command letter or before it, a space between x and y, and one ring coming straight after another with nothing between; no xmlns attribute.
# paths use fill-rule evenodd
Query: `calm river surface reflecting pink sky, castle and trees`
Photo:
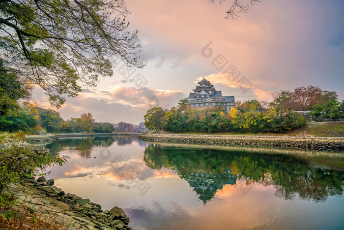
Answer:
<svg viewBox="0 0 344 230"><path fill-rule="evenodd" d="M136 230L344 229L344 157L63 138L55 185L122 207ZM344 154L343 154L344 155Z"/></svg>

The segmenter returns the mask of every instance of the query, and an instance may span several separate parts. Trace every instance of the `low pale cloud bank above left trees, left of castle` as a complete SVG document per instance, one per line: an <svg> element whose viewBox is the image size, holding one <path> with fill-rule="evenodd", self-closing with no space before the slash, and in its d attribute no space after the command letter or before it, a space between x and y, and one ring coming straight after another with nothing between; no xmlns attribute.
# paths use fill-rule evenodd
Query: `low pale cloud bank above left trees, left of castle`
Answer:
<svg viewBox="0 0 344 230"><path fill-rule="evenodd" d="M139 124L146 111L153 107L176 106L185 94L178 90L160 90L116 86L109 90L93 89L93 93L81 92L76 98L67 98L60 109L51 106L43 91L36 88L33 97L41 107L51 108L60 113L63 119L79 117L90 112L96 121L117 123L120 121Z"/></svg>

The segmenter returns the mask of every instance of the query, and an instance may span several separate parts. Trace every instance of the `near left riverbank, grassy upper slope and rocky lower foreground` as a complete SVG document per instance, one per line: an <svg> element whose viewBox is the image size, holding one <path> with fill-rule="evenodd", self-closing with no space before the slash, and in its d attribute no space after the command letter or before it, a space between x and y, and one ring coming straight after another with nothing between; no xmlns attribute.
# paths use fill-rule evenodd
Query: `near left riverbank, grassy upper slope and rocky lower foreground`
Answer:
<svg viewBox="0 0 344 230"><path fill-rule="evenodd" d="M8 153L12 154L14 146L34 152L33 155L30 155L30 159L23 154L18 155L13 159L18 164L23 164L24 161L36 161L39 156L51 154L46 148L34 146L19 139L2 139L0 142L1 165L10 164L6 159ZM18 170L22 169L18 168ZM0 175L6 176L6 174ZM0 177L0 181L2 181L2 177ZM31 220L37 220L42 223L42 226L47 226L46 223L56 224L63 226L62 229L131 230L128 226L129 218L123 209L115 206L111 210L103 211L99 204L93 203L87 198L65 194L54 186L53 179L47 181L44 177L40 177L36 181L33 178L21 177L16 183L9 184L6 194L15 197L16 202L14 206L0 208L0 229L12 229L13 226L18 226L18 222L24 224L23 228L28 228L31 226L29 225ZM11 218L9 219L8 216ZM40 228L43 228L42 226Z"/></svg>

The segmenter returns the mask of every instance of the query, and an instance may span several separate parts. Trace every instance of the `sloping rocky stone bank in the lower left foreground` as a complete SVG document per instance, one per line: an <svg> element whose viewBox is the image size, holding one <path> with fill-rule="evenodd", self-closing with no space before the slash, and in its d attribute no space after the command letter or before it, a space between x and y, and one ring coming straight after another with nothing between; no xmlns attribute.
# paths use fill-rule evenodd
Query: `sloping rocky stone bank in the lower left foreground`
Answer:
<svg viewBox="0 0 344 230"><path fill-rule="evenodd" d="M123 209L115 206L111 210L102 211L99 204L83 199L74 194L65 194L54 186L54 180L40 177L38 180L23 179L19 184L12 185L17 192L19 203L31 206L46 216L57 215L62 223L70 223L74 229L85 230L131 230L129 218ZM44 216L44 215L43 215Z"/></svg>

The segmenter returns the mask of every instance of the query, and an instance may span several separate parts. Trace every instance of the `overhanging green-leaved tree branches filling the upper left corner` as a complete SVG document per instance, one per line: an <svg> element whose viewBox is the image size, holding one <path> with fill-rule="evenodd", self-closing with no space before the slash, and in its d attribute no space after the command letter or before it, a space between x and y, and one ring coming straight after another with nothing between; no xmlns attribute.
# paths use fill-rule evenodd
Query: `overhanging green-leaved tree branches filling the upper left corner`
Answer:
<svg viewBox="0 0 344 230"><path fill-rule="evenodd" d="M112 76L119 57L143 67L124 0L1 0L0 60L7 73L39 85L57 108L81 85Z"/></svg>

